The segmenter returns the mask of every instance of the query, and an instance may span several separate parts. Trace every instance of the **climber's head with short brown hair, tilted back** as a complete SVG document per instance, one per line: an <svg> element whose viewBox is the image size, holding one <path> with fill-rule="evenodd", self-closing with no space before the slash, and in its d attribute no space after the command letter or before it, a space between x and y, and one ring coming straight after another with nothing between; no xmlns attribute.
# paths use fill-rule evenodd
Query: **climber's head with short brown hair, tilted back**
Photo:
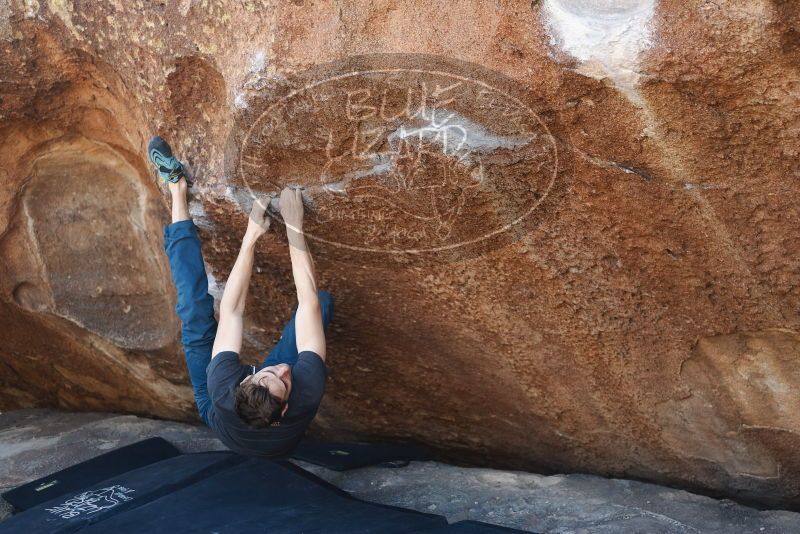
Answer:
<svg viewBox="0 0 800 534"><path fill-rule="evenodd" d="M289 409L291 392L291 367L285 363L264 367L236 387L236 413L251 427L267 427Z"/></svg>

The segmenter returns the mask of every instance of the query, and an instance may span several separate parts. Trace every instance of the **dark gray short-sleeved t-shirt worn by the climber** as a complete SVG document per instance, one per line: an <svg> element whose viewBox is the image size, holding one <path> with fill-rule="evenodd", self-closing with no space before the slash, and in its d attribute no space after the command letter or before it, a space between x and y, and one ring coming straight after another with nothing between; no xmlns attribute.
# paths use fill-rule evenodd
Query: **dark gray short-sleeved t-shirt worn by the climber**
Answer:
<svg viewBox="0 0 800 534"><path fill-rule="evenodd" d="M208 422L217 437L232 451L245 456L286 457L303 438L325 393L328 369L315 352L298 355L292 366L289 409L280 421L267 428L251 428L236 413L236 386L253 374L251 365L239 361L235 352L220 352L208 364L211 410Z"/></svg>

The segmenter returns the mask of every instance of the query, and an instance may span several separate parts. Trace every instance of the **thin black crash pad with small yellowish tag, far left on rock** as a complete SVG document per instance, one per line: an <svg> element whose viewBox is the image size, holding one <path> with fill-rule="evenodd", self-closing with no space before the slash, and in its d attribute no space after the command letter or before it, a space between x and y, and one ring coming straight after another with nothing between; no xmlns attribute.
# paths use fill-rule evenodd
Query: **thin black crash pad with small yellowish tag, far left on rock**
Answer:
<svg viewBox="0 0 800 534"><path fill-rule="evenodd" d="M27 510L96 482L179 454L180 451L163 438L146 439L6 491L3 499L14 510Z"/></svg>

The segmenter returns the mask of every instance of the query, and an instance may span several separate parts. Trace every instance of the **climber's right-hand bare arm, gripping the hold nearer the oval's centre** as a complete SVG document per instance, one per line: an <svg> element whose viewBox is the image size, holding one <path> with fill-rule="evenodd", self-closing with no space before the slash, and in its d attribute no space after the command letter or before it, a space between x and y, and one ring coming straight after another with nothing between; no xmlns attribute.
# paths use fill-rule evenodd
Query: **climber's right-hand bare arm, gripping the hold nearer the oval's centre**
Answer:
<svg viewBox="0 0 800 534"><path fill-rule="evenodd" d="M297 352L312 351L325 360L325 330L322 308L317 296L314 262L303 234L303 197L299 189L281 192L280 210L286 223L292 275L297 290L297 313L294 319Z"/></svg>

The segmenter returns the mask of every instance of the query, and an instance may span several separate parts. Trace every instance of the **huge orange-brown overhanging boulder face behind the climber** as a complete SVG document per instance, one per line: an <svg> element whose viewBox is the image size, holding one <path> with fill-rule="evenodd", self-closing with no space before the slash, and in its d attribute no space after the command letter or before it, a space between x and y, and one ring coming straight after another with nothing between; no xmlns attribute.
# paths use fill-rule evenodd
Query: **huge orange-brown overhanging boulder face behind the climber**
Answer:
<svg viewBox="0 0 800 534"><path fill-rule="evenodd" d="M150 135L212 293L306 187L315 431L797 503L791 2L0 2L6 408L191 419ZM293 305L265 239L243 357Z"/></svg>

